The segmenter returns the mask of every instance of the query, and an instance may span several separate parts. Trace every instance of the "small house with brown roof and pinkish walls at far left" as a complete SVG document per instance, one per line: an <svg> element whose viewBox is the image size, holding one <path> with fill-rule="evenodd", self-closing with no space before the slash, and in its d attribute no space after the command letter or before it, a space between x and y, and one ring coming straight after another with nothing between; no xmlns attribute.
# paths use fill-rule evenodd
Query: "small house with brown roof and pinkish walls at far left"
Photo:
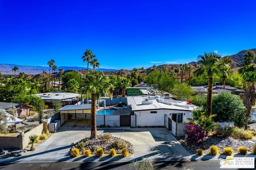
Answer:
<svg viewBox="0 0 256 170"><path fill-rule="evenodd" d="M23 115L29 116L31 105L24 105L20 103L7 103L7 102L0 102L0 109L9 110L13 107L16 108L15 117L21 117Z"/></svg>

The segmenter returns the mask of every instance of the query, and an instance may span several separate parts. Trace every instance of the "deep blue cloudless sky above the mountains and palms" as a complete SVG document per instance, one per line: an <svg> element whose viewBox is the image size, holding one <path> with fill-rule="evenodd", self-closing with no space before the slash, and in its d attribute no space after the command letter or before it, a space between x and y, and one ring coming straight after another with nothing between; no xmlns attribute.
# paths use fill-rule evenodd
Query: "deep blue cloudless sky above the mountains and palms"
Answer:
<svg viewBox="0 0 256 170"><path fill-rule="evenodd" d="M255 0L0 0L0 63L133 69L256 48ZM90 66L92 68L92 66Z"/></svg>

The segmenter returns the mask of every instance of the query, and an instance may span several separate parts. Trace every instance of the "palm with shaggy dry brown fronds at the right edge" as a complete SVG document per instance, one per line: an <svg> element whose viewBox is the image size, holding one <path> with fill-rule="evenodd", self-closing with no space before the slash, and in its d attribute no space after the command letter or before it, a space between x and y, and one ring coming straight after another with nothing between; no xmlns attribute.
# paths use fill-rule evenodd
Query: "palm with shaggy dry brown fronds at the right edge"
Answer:
<svg viewBox="0 0 256 170"><path fill-rule="evenodd" d="M243 98L243 104L246 107L245 130L248 129L248 119L252 106L256 104L256 65L253 63L254 59L254 52L247 51L247 53L244 54L244 61L242 63L243 67L238 69L238 73L242 74L246 84L246 91Z"/></svg>

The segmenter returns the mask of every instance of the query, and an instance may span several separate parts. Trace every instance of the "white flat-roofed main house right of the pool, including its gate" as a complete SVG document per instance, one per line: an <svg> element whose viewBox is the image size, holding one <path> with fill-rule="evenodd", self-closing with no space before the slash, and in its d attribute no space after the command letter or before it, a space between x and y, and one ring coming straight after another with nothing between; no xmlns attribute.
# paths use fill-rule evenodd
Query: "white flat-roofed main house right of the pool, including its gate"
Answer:
<svg viewBox="0 0 256 170"><path fill-rule="evenodd" d="M136 115L136 127L165 126L174 136L183 135L186 118L197 106L187 104L186 101L177 101L170 96L128 96L127 105Z"/></svg>

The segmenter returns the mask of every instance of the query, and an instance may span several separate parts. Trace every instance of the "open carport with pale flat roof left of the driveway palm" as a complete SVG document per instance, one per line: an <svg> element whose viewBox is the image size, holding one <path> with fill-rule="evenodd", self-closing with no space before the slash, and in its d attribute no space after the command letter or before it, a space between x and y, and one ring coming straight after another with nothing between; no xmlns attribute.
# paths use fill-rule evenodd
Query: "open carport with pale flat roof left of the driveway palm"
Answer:
<svg viewBox="0 0 256 170"><path fill-rule="evenodd" d="M60 108L60 122L63 125L68 119L91 119L92 105L66 105Z"/></svg>

